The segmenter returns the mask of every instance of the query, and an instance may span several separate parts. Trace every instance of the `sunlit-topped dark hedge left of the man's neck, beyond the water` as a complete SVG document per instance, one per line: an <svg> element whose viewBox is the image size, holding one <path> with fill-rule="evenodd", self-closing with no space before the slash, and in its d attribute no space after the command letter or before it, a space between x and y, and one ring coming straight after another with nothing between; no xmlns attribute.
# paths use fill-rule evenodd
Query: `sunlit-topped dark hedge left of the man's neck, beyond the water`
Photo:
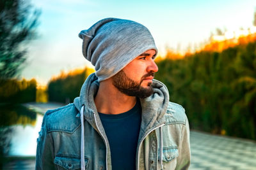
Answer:
<svg viewBox="0 0 256 170"><path fill-rule="evenodd" d="M92 69L85 68L68 74L62 73L57 78L53 78L48 85L49 101L72 102L75 97L79 96L84 80L92 72Z"/></svg>

